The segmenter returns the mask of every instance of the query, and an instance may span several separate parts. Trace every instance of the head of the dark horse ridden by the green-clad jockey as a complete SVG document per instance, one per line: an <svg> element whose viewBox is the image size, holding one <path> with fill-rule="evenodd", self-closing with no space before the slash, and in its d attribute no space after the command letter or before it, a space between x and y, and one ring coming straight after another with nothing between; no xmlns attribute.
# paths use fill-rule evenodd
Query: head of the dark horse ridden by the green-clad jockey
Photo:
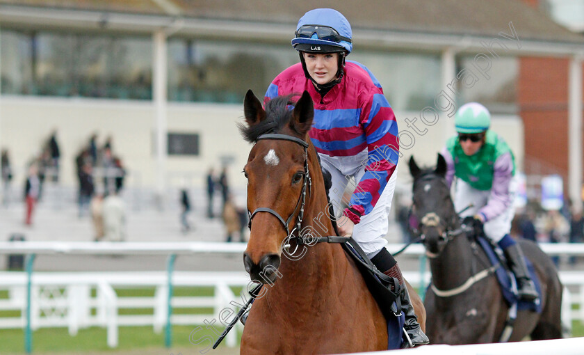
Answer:
<svg viewBox="0 0 584 355"><path fill-rule="evenodd" d="M426 253L438 255L448 243L448 231L456 228L458 216L446 184L446 160L438 155L436 168L419 168L412 156L409 173L414 178L413 210Z"/></svg>

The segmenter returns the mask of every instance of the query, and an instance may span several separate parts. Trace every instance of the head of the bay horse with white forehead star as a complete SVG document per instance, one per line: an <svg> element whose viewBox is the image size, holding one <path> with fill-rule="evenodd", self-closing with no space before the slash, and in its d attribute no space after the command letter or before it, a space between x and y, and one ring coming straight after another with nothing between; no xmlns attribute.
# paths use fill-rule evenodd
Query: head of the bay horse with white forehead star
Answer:
<svg viewBox="0 0 584 355"><path fill-rule="evenodd" d="M248 178L250 241L243 254L252 280L273 283L282 256L282 242L302 218L307 182L307 132L314 118L305 91L290 109L291 96L276 97L266 110L251 90L245 95L245 139L256 142L243 169Z"/></svg>

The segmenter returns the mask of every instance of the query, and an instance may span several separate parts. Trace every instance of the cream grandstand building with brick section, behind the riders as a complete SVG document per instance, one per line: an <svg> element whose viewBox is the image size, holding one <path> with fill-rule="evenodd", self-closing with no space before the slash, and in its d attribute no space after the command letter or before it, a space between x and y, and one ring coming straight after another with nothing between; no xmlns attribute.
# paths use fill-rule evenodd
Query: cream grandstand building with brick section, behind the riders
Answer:
<svg viewBox="0 0 584 355"><path fill-rule="evenodd" d="M519 170L582 185L584 38L544 11L560 1L320 1L346 15L355 52L396 112L403 159L432 164L469 101ZM543 3L543 5L542 5ZM133 187L202 186L210 166L234 187L250 146L243 97L261 97L298 61L290 40L313 1L0 0L0 147L15 179L56 129L61 184L97 133L113 138ZM549 8L548 8L549 10ZM407 168L400 182L409 182Z"/></svg>

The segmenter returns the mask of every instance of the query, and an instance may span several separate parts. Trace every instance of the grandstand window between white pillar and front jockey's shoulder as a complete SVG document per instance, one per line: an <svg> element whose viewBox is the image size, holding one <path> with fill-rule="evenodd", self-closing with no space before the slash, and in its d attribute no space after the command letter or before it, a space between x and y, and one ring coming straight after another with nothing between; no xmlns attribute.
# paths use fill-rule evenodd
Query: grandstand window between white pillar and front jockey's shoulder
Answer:
<svg viewBox="0 0 584 355"><path fill-rule="evenodd" d="M250 88L261 98L276 75L298 61L291 46L172 38L168 98L241 103Z"/></svg>

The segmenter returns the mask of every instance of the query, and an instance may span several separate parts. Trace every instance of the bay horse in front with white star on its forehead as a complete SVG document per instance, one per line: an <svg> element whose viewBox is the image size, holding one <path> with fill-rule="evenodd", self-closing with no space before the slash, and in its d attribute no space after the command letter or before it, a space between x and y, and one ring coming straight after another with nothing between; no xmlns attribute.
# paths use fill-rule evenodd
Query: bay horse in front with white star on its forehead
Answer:
<svg viewBox="0 0 584 355"><path fill-rule="evenodd" d="M339 354L387 349L386 319L341 245L288 242L294 228L336 235L327 214L321 166L307 135L314 106L305 91L290 109L291 97L275 97L264 111L251 90L245 95L246 125L239 126L244 138L255 144L243 169L248 211L253 212L243 260L252 281L263 286L245 322L240 352ZM296 247L302 252L287 253ZM423 303L409 290L423 329Z"/></svg>

